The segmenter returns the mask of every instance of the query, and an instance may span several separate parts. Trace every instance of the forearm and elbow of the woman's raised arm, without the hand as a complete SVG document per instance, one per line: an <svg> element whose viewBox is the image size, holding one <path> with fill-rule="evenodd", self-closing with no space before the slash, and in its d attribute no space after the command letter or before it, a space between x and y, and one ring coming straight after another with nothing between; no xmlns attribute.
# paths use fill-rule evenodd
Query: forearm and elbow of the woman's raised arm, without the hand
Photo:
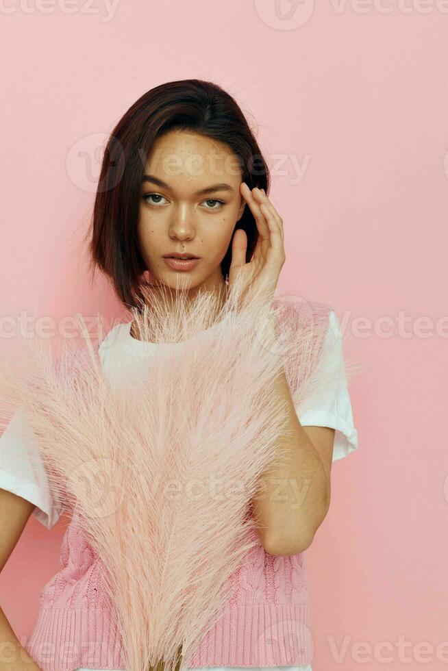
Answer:
<svg viewBox="0 0 448 671"><path fill-rule="evenodd" d="M334 429L302 427L282 369L277 389L288 407L288 431L279 449L291 453L261 477L260 495L252 503L262 545L272 555L306 550L327 514Z"/></svg>

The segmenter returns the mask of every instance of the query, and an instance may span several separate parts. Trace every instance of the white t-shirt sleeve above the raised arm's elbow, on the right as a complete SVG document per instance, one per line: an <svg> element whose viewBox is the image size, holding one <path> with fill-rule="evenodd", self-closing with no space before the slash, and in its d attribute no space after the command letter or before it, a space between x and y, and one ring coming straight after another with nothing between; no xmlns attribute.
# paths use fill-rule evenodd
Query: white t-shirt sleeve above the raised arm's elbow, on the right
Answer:
<svg viewBox="0 0 448 671"><path fill-rule="evenodd" d="M353 412L347 376L344 369L343 338L334 310L329 312L329 328L325 333L323 348L330 348L334 364L340 367L340 382L325 394L312 409L297 415L303 427L329 427L335 429L332 461L347 457L358 448L358 433L353 424Z"/></svg>

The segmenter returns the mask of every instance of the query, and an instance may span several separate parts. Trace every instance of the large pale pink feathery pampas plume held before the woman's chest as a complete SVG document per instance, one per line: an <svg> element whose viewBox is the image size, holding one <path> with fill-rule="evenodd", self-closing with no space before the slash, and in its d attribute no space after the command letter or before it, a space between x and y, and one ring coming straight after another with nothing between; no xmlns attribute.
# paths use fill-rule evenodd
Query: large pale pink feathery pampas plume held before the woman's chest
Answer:
<svg viewBox="0 0 448 671"><path fill-rule="evenodd" d="M258 542L260 477L288 453L277 375L305 412L349 370L323 351L326 306L256 283L237 279L224 301L153 286L130 312L147 356L112 362L119 377L80 314L83 344L57 357L49 342L2 342L0 417L21 409L51 490L101 559L127 671L184 671Z"/></svg>

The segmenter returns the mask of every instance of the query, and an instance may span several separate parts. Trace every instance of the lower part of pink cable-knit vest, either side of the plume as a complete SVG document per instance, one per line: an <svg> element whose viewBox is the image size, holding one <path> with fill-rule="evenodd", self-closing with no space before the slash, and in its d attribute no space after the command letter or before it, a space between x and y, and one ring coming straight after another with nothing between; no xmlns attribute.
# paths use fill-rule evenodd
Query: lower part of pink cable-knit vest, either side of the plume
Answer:
<svg viewBox="0 0 448 671"><path fill-rule="evenodd" d="M40 610L25 649L43 671L125 669L121 635L101 590L101 563L75 516L64 534L60 561L62 569L40 592ZM311 663L304 553L277 557L258 542L230 579L232 598L190 666Z"/></svg>

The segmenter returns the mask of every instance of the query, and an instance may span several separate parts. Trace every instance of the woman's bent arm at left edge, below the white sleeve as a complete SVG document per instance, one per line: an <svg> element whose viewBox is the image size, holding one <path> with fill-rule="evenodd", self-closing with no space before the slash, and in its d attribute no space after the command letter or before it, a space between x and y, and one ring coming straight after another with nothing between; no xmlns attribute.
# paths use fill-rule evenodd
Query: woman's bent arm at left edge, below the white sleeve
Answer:
<svg viewBox="0 0 448 671"><path fill-rule="evenodd" d="M16 546L34 503L0 488L0 571ZM32 657L18 642L0 607L0 671L40 671Z"/></svg>

